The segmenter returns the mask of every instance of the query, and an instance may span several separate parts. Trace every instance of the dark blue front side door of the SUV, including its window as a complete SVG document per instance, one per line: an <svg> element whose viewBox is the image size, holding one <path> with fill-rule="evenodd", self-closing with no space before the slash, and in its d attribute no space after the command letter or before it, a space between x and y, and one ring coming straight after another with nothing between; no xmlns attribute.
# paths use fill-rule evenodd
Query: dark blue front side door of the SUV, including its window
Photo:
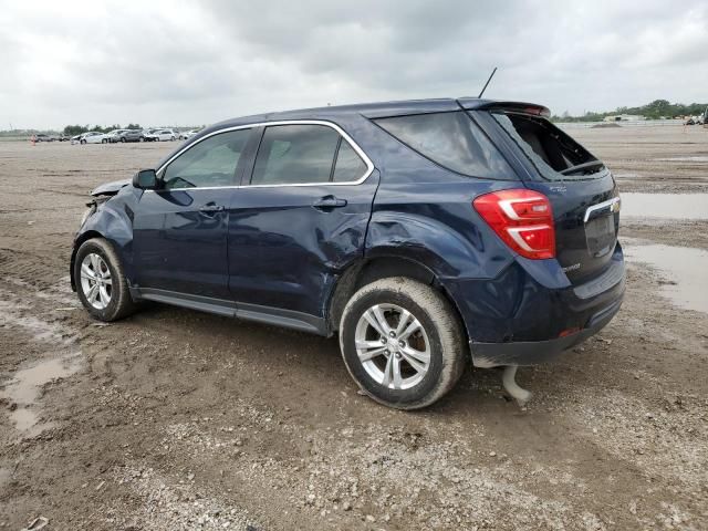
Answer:
<svg viewBox="0 0 708 531"><path fill-rule="evenodd" d="M138 288L230 299L229 205L249 136L205 137L159 171L159 189L143 194L133 223Z"/></svg>

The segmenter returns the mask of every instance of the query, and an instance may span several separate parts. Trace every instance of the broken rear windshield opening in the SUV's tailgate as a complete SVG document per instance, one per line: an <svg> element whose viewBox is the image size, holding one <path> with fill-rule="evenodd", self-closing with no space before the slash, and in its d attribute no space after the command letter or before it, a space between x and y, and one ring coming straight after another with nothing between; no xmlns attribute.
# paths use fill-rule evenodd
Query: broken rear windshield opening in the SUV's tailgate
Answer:
<svg viewBox="0 0 708 531"><path fill-rule="evenodd" d="M604 175L602 162L548 119L501 112L492 116L544 179L592 179Z"/></svg>

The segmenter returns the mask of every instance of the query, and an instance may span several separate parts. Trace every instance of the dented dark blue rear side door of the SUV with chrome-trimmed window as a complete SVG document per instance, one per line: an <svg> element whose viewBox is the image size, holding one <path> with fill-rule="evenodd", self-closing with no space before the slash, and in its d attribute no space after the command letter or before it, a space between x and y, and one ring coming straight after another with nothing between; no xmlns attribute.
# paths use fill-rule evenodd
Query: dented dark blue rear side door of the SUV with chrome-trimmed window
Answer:
<svg viewBox="0 0 708 531"><path fill-rule="evenodd" d="M268 125L231 201L229 287L239 311L324 316L334 275L363 254L378 174L342 129Z"/></svg>

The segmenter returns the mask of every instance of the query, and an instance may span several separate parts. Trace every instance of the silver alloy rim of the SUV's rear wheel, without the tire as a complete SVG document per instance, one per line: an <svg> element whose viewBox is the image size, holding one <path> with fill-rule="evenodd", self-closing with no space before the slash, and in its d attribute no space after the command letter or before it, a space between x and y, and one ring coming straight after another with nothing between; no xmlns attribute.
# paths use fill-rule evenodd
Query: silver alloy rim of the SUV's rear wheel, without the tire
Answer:
<svg viewBox="0 0 708 531"><path fill-rule="evenodd" d="M354 340L360 363L384 387L415 387L430 367L430 341L425 327L396 304L375 304L366 310L356 324Z"/></svg>

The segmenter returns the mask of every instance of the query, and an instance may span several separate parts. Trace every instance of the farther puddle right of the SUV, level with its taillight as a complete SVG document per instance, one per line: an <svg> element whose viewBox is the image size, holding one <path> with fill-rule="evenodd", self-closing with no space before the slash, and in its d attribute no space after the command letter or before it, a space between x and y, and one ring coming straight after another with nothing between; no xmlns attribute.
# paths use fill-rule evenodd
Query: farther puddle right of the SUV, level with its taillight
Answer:
<svg viewBox="0 0 708 531"><path fill-rule="evenodd" d="M708 194L622 194L622 217L708 219Z"/></svg>

